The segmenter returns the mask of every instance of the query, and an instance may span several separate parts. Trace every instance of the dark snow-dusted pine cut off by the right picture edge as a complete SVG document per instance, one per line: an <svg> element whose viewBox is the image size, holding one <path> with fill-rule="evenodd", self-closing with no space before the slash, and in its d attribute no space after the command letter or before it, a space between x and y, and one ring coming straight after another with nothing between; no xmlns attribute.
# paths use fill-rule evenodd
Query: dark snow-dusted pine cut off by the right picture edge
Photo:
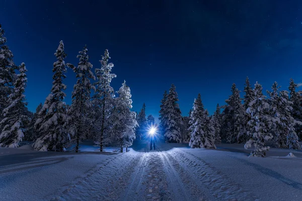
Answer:
<svg viewBox="0 0 302 201"><path fill-rule="evenodd" d="M300 139L302 139L302 96L301 91L296 91L297 84L294 83L294 80L290 78L289 82L289 100L292 102L292 111L291 115L296 121L295 124L295 132L299 136Z"/></svg>

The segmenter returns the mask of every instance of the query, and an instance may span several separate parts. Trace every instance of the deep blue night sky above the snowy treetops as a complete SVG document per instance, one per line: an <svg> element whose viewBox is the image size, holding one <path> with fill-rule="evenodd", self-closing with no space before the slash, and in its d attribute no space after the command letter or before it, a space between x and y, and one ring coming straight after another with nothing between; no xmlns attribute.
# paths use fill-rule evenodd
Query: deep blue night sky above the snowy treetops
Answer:
<svg viewBox="0 0 302 201"><path fill-rule="evenodd" d="M15 63L28 69L28 108L44 103L60 40L66 62L87 44L94 68L107 48L112 86L125 79L133 111L158 117L164 90L176 85L185 116L200 92L212 114L246 76L269 89L302 82L302 1L1 1L0 23ZM68 69L66 103L75 75ZM242 93L243 95L243 93Z"/></svg>

